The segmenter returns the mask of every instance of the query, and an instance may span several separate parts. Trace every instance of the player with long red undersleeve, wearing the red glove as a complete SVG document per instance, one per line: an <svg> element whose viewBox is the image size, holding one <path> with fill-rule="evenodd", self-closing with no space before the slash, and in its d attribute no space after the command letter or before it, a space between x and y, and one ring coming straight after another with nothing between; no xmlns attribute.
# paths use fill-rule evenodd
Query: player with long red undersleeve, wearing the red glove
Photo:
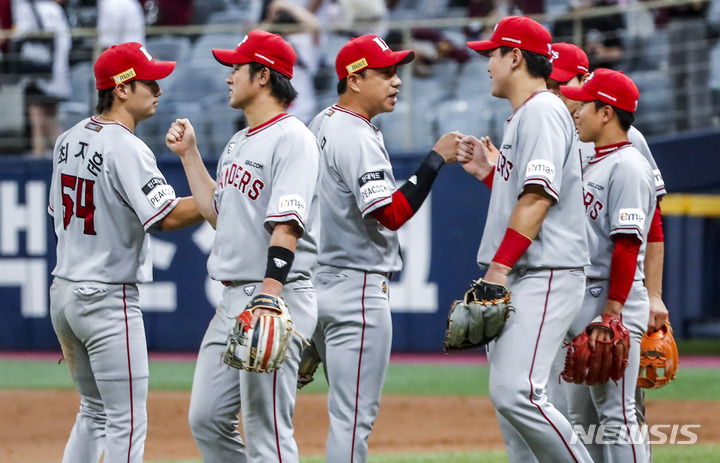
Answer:
<svg viewBox="0 0 720 463"><path fill-rule="evenodd" d="M595 143L583 169L591 265L583 309L570 335L582 332L599 314L622 318L630 331L629 365L618 384L568 384L574 424L600 424L607 445L595 447L595 461L644 462L645 448L635 417L640 340L648 326L650 302L643 284L646 240L655 212L655 177L647 160L628 141L639 92L619 71L596 69L582 87L560 87L581 101L575 112L580 140ZM594 340L609 334L594 328ZM598 452L599 453L599 452Z"/></svg>

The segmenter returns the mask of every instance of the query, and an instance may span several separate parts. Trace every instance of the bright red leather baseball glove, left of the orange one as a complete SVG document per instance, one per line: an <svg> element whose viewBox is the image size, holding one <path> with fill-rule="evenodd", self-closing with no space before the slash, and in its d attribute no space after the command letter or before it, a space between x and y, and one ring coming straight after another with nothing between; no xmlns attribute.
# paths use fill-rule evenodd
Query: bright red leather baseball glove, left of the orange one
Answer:
<svg viewBox="0 0 720 463"><path fill-rule="evenodd" d="M602 327L611 333L608 341L595 341L590 350L592 328ZM566 344L565 369L560 374L568 383L589 385L613 380L617 383L625 374L630 351L630 333L619 318L602 314L596 317L571 343Z"/></svg>

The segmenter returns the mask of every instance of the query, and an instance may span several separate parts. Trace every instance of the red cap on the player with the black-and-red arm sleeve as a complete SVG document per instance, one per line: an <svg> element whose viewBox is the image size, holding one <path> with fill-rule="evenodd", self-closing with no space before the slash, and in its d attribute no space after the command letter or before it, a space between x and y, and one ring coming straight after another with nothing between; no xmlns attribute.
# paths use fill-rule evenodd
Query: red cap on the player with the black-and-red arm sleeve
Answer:
<svg viewBox="0 0 720 463"><path fill-rule="evenodd" d="M354 37L338 52L335 58L335 72L338 80L363 69L377 69L396 64L407 64L415 59L412 50L392 51L377 35Z"/></svg>

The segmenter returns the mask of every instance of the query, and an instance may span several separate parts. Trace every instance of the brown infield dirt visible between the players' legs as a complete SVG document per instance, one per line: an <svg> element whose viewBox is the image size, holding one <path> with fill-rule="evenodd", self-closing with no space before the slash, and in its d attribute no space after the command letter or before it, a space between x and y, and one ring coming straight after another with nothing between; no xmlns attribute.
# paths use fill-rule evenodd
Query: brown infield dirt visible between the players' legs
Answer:
<svg viewBox="0 0 720 463"><path fill-rule="evenodd" d="M150 391L146 461L200 459L187 424L189 400L189 392ZM324 453L326 400L324 394L298 396L295 425L301 455ZM0 461L61 460L79 405L75 391L2 390L0 404ZM699 424L693 430L699 443L720 443L720 402L648 401L647 407L652 422ZM480 423L486 423L484 429ZM486 397L383 396L370 437L371 454L484 449L502 449Z"/></svg>

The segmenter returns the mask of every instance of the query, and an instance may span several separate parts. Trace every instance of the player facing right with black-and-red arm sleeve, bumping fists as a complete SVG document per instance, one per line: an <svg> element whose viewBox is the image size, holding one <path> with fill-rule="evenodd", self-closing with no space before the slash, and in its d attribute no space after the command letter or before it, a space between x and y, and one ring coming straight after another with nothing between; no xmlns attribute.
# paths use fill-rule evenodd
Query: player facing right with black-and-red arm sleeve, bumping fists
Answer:
<svg viewBox="0 0 720 463"><path fill-rule="evenodd" d="M326 461L364 462L390 360L389 279L402 268L396 230L455 162L460 134L438 140L399 188L373 117L392 112L412 51L392 51L375 35L346 43L335 60L338 102L310 124L321 147L318 187L322 240L313 336L330 385Z"/></svg>

